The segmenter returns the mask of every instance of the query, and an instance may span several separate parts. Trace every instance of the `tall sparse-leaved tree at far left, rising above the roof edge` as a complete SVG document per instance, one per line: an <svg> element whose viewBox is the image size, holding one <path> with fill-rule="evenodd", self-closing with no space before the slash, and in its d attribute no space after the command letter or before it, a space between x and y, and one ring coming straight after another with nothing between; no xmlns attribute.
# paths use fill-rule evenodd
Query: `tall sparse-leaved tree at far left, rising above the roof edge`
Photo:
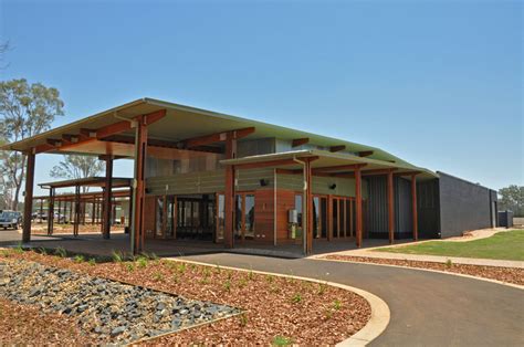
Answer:
<svg viewBox="0 0 524 347"><path fill-rule="evenodd" d="M25 78L0 82L0 138L15 143L49 130L55 116L63 115L64 102L56 88ZM3 154L1 168L12 187L11 209L17 210L24 179L25 154Z"/></svg>

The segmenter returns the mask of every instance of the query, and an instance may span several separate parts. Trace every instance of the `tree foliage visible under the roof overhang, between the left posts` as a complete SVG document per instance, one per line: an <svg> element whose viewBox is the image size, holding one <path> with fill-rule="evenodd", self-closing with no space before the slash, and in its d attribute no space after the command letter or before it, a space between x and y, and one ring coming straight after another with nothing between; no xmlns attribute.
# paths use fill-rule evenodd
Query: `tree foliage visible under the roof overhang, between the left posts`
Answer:
<svg viewBox="0 0 524 347"><path fill-rule="evenodd" d="M51 169L51 177L78 179L97 176L104 171L104 162L92 156L64 156L64 160L60 161ZM84 192L87 192L87 187L82 187Z"/></svg>

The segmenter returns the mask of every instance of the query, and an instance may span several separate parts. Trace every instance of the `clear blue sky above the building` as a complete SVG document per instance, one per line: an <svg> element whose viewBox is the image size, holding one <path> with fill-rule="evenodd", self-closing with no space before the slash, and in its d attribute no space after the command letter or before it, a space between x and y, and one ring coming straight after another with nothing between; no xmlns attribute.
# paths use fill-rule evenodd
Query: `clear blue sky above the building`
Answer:
<svg viewBox="0 0 524 347"><path fill-rule="evenodd" d="M56 126L149 96L524 185L521 1L0 0L0 40L2 80L61 91Z"/></svg>

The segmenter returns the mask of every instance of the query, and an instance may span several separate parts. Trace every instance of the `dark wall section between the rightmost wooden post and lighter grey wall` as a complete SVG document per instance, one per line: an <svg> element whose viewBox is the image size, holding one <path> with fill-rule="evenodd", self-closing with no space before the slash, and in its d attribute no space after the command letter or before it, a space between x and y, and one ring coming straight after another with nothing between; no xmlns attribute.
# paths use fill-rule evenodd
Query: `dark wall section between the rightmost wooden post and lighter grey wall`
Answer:
<svg viewBox="0 0 524 347"><path fill-rule="evenodd" d="M419 238L440 238L439 180L417 182Z"/></svg>

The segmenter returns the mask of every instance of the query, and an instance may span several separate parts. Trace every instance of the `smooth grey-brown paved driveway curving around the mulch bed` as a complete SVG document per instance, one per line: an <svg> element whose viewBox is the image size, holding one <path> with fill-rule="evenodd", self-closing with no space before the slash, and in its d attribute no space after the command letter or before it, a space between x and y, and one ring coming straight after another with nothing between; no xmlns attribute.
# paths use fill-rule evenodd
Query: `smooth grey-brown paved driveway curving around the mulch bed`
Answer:
<svg viewBox="0 0 524 347"><path fill-rule="evenodd" d="M371 346L524 346L524 291L518 288L410 269L308 259L228 253L184 259L332 281L376 294L389 305L391 322Z"/></svg>

